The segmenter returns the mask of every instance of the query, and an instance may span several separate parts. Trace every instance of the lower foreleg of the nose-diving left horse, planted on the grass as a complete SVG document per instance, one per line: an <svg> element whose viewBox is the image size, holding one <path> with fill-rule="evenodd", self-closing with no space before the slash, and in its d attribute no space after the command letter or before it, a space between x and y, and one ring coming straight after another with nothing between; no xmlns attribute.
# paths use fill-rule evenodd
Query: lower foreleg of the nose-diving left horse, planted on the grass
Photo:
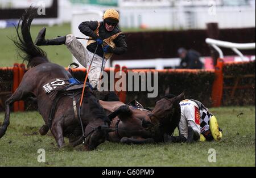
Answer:
<svg viewBox="0 0 256 178"><path fill-rule="evenodd" d="M52 124L51 132L55 138L55 141L57 142L58 147L61 149L65 144L63 137L63 124L60 121L54 122Z"/></svg>

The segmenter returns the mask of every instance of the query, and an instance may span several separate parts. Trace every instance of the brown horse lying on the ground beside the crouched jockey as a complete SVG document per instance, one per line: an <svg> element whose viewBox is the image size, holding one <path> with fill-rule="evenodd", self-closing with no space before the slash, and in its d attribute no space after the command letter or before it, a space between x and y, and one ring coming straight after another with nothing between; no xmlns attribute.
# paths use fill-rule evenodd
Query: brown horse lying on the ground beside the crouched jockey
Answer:
<svg viewBox="0 0 256 178"><path fill-rule="evenodd" d="M171 135L180 121L180 105L184 94L166 95L156 102L152 111L126 105L121 101L101 101L112 119L109 141L122 143L163 142L164 134Z"/></svg>

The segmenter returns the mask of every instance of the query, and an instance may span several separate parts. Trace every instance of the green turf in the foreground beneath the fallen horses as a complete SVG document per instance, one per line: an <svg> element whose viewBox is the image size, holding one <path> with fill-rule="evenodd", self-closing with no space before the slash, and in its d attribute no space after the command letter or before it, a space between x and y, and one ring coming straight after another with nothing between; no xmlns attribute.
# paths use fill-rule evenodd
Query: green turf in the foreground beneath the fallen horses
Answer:
<svg viewBox="0 0 256 178"><path fill-rule="evenodd" d="M0 139L0 166L255 166L255 106L210 111L224 130L220 142L105 142L89 152L82 151L82 146L59 150L52 136L38 134L43 124L38 112L12 113L6 135ZM240 113L243 114L237 117ZM4 113L0 113L1 121L3 117ZM37 151L41 148L46 150L46 163L37 162ZM216 163L208 162L211 148L216 150Z"/></svg>

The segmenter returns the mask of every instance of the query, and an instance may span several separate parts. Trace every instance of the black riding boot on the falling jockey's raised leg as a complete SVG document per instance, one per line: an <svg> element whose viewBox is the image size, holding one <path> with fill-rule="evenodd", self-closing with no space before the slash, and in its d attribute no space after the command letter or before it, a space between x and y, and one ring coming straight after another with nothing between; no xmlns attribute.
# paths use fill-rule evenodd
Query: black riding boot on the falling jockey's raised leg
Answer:
<svg viewBox="0 0 256 178"><path fill-rule="evenodd" d="M46 40L44 37L46 36L46 27L43 27L36 37L35 45L38 46L48 46L48 45L62 45L65 44L66 36L56 37L54 39Z"/></svg>

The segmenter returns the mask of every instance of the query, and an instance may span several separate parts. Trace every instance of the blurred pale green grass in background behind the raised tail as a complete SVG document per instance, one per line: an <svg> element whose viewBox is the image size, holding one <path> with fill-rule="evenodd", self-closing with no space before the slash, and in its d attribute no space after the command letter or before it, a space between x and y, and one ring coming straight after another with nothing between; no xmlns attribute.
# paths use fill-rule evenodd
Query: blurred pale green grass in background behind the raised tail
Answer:
<svg viewBox="0 0 256 178"><path fill-rule="evenodd" d="M40 29L44 26L31 26L31 36L35 40ZM57 37L58 35L68 35L71 33L69 24L61 26L46 27L46 39ZM22 59L16 52L16 47L9 39L15 39L16 31L14 27L0 29L0 67L12 67L13 63L22 63ZM68 67L72 62L71 53L65 45L59 46L40 46L46 51L51 62L57 63L61 66Z"/></svg>

